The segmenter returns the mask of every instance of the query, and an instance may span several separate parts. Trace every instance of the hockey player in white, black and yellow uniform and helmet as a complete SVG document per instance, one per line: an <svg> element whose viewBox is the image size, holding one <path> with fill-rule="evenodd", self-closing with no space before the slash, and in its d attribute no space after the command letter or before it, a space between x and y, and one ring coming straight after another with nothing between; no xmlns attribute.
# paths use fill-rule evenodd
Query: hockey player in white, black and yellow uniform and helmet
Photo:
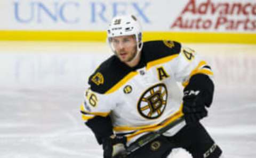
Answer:
<svg viewBox="0 0 256 158"><path fill-rule="evenodd" d="M103 146L103 157L114 157L183 115L185 121L129 157L165 158L174 147L185 148L194 158L220 157L219 146L199 122L207 116L214 91L205 60L179 42L142 42L133 15L114 17L108 43L114 55L90 76L81 106L85 124Z"/></svg>

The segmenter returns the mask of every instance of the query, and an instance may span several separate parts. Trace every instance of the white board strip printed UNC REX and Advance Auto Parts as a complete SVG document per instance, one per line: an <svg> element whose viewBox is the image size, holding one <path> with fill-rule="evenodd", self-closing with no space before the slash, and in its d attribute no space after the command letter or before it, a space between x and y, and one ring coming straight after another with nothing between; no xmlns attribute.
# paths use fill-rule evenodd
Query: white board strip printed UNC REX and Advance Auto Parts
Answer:
<svg viewBox="0 0 256 158"><path fill-rule="evenodd" d="M253 0L12 0L0 4L0 30L104 31L113 16L131 13L145 31L256 31Z"/></svg>

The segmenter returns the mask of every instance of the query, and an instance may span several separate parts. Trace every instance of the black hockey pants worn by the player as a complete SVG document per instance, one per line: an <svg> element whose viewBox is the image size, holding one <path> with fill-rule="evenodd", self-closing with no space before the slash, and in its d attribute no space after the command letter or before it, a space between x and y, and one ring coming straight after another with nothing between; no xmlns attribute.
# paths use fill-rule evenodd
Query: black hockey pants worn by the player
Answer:
<svg viewBox="0 0 256 158"><path fill-rule="evenodd" d="M166 158L177 147L185 148L193 158L218 158L222 153L205 128L196 122L186 125L172 137L158 137L129 158Z"/></svg>

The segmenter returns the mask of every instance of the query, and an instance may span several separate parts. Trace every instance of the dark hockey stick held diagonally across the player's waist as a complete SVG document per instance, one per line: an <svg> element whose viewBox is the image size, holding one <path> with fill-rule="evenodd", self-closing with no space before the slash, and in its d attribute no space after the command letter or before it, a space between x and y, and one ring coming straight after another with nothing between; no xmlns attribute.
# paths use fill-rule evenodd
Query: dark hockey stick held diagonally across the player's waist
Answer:
<svg viewBox="0 0 256 158"><path fill-rule="evenodd" d="M176 125L178 125L183 120L185 120L185 118L184 118L184 116L181 116L180 118L178 118L177 120L171 122L167 126L161 128L159 130L150 132L150 133L146 134L145 136L142 136L141 139L139 138L138 141L135 141L130 146L128 146L124 153L122 153L121 155L117 155L117 156L115 156L113 158L125 158L125 157L128 157L130 154L132 154L133 152L137 151L142 146L150 143L151 141L154 141L157 137L159 137L163 133L165 133L165 131L173 128Z"/></svg>

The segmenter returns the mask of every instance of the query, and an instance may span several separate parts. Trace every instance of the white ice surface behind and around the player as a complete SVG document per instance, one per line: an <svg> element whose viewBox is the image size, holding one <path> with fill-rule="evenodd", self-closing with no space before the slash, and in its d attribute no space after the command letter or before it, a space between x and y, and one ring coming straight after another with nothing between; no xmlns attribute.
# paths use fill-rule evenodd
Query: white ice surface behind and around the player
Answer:
<svg viewBox="0 0 256 158"><path fill-rule="evenodd" d="M221 48L219 45L195 45L201 51L213 51L217 46L218 50L222 51L222 55L229 50L233 50L237 54L241 53L241 51L235 51L238 47L235 50L232 49L236 47L234 45L223 45ZM255 51L255 46L241 45L241 47L252 47L254 49L251 50L252 53ZM19 50L12 51L6 47L0 48L0 70L2 73L0 77L2 78L0 83L1 158L102 157L101 146L95 141L92 132L83 125L79 105L83 100L83 83L86 76L109 54L103 50L97 50L97 54L91 54L95 50L82 48L83 52L77 52L76 49L73 58L67 54L58 54L57 50L52 50L52 48L47 50L52 51L47 55L45 52L30 54L22 50L18 52ZM30 48L27 49L30 50ZM211 59L218 55L206 56ZM57 65L58 61L66 61L66 63L62 67L63 71L57 71L57 74L47 68L47 62L44 60L41 63L43 68L36 71L31 71L29 65L23 64L21 66L30 70L23 72L26 75L22 75L22 72L17 72L17 69L14 69L15 62L17 65L17 61L20 60L13 56L23 58L25 63L30 61L34 68L38 68L38 65L35 64L39 61L38 56L43 57L41 62L42 59L49 62L55 58ZM230 57L232 56L230 55ZM226 158L256 157L256 88L252 84L252 81L255 80L256 66L254 63L256 60L254 54L247 56L245 57L248 59L245 58L245 60L247 63L249 62L249 65L243 63L242 65L249 68L249 73L240 71L242 74L250 74L250 76L249 78L240 76L239 80L235 76L237 81L230 80L232 78L230 75L234 74L229 71L225 72L223 69L234 69L234 66L239 63L235 62L230 66L230 64L225 65L225 62L222 62L223 66L218 68L218 65L214 66L213 62L216 80L219 81L219 84L216 86L214 102L209 109L209 117L202 122L215 142L222 148ZM252 60L250 60L251 58ZM45 63L46 65L44 65ZM56 68L54 64L52 66ZM253 72L250 72L252 68L254 68ZM42 69L47 72L38 74L38 71L44 72ZM82 72L83 69L84 72ZM218 76L223 74L222 70L229 73L229 79ZM231 71L236 72L235 70ZM20 75L17 76L17 73ZM245 83L243 78L246 79ZM58 80L60 81L57 82ZM176 150L173 155L174 158L189 157L181 150Z"/></svg>

